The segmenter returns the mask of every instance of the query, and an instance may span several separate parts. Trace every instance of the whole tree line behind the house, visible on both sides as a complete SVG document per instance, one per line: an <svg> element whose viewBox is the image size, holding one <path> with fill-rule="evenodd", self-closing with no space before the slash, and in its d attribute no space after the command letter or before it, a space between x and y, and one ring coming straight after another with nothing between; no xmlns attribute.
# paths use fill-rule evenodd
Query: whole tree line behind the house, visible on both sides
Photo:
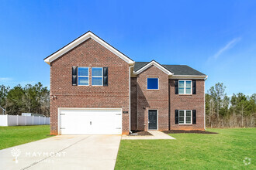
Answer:
<svg viewBox="0 0 256 170"><path fill-rule="evenodd" d="M210 128L255 127L256 93L228 97L223 83L216 83L206 93L206 126ZM42 83L10 88L0 86L0 106L6 114L22 113L50 116L50 91Z"/></svg>

